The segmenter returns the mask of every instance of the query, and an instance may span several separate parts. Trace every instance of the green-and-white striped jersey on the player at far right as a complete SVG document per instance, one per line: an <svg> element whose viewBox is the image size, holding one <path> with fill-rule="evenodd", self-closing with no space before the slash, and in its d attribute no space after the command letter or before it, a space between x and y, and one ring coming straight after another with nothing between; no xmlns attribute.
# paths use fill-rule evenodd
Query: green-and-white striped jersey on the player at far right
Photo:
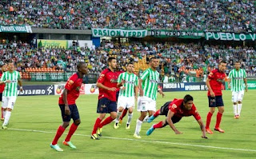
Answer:
<svg viewBox="0 0 256 159"><path fill-rule="evenodd" d="M229 74L229 78L231 80L231 91L239 92L245 89L245 82L243 81L246 78L246 70L231 70Z"/></svg>

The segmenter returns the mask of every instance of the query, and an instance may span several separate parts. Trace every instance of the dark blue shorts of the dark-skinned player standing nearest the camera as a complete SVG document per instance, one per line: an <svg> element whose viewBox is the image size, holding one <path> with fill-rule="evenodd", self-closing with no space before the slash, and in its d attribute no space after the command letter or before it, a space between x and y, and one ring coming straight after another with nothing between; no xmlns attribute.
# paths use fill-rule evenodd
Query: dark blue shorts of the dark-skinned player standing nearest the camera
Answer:
<svg viewBox="0 0 256 159"><path fill-rule="evenodd" d="M62 111L62 121L70 121L71 118L73 121L76 121L80 119L79 112L78 112L78 107L77 105L69 105L70 107L70 115L65 114L65 105L59 105L59 108Z"/></svg>

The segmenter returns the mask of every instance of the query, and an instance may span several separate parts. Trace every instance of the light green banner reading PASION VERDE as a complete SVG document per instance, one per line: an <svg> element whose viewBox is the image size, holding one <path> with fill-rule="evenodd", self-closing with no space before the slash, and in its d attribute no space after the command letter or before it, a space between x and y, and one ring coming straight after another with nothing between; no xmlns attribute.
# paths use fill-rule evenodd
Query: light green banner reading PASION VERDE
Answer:
<svg viewBox="0 0 256 159"><path fill-rule="evenodd" d="M144 38L147 30L122 30L122 29L92 29L93 37L134 37Z"/></svg>

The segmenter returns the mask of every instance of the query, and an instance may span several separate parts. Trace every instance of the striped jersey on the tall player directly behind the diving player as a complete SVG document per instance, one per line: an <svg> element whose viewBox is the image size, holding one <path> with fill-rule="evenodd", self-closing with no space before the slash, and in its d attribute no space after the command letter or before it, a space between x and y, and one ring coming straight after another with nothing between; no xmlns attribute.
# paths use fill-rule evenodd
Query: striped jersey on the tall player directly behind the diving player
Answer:
<svg viewBox="0 0 256 159"><path fill-rule="evenodd" d="M141 79L144 96L150 97L154 101L157 100L158 83L160 82L158 71L147 69L142 73Z"/></svg>

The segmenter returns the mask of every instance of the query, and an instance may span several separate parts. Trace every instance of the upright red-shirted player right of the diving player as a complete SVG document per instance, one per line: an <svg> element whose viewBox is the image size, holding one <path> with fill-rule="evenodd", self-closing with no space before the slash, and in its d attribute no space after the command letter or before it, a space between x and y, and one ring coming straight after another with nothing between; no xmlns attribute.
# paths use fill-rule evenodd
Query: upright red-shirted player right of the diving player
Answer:
<svg viewBox="0 0 256 159"><path fill-rule="evenodd" d="M210 120L214 114L215 107L218 107L217 120L214 130L220 133L224 133L223 129L220 129L219 125L222 121L222 113L224 112L224 103L222 100L222 82L225 81L226 74L226 62L222 61L218 64L218 69L210 72L206 79L206 85L208 87L208 101L210 111L206 118L206 132L212 134L210 130Z"/></svg>

